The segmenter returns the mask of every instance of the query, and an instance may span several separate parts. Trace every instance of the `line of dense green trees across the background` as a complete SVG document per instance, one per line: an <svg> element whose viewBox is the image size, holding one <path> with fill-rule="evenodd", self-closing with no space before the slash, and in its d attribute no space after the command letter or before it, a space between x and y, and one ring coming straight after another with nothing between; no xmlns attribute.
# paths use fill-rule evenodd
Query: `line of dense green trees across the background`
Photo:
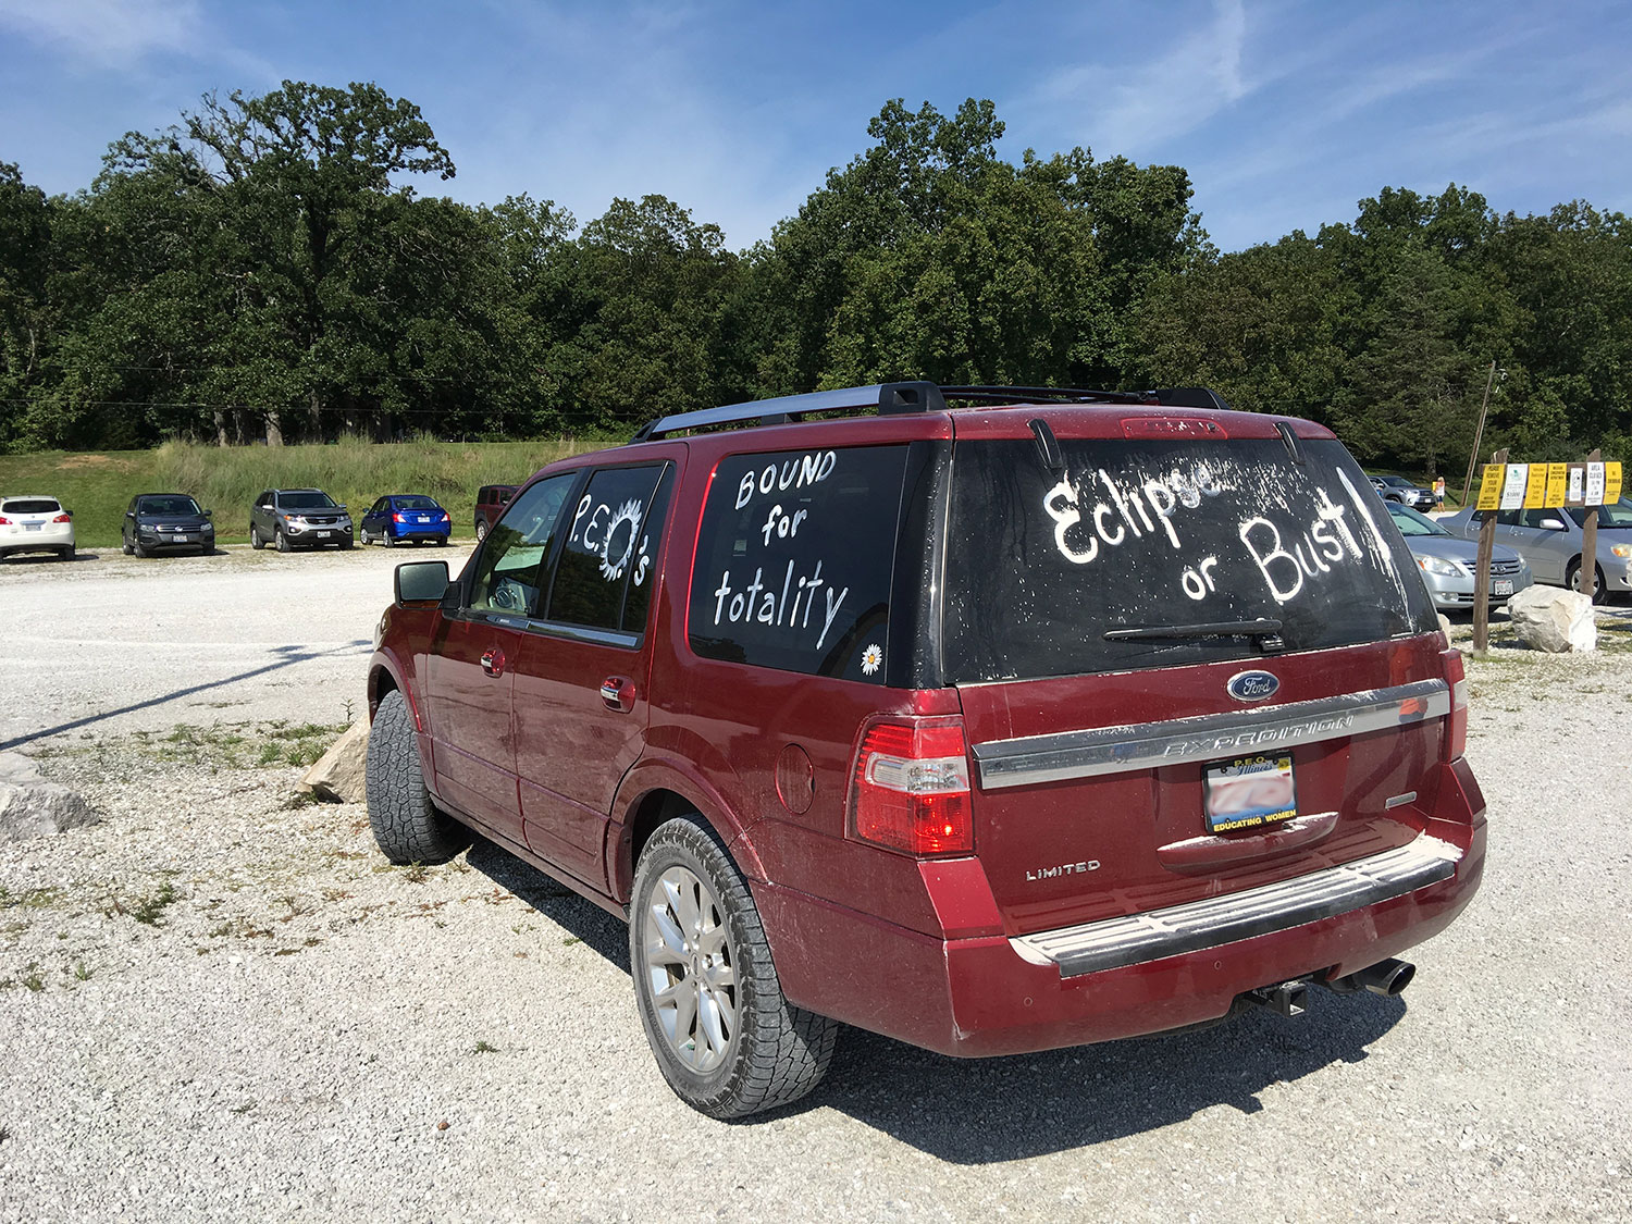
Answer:
<svg viewBox="0 0 1632 1224"><path fill-rule="evenodd" d="M0 163L0 449L619 434L767 395L1206 385L1374 463L1627 454L1632 242L1575 201L1451 184L1219 253L1180 166L999 157L991 101L886 103L868 147L733 251L663 196L579 225L467 206L374 85L209 95L47 197ZM1632 457L1632 455L1627 455Z"/></svg>

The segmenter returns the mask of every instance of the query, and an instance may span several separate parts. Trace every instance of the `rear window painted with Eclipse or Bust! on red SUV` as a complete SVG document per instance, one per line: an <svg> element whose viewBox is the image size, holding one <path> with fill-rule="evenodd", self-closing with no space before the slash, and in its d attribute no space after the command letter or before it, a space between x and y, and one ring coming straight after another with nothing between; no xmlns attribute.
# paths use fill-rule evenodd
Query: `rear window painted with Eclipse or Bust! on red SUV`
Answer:
<svg viewBox="0 0 1632 1224"><path fill-rule="evenodd" d="M960 442L943 614L953 682L1257 658L1438 628L1404 540L1335 441ZM1175 636L1105 640L1110 630Z"/></svg>

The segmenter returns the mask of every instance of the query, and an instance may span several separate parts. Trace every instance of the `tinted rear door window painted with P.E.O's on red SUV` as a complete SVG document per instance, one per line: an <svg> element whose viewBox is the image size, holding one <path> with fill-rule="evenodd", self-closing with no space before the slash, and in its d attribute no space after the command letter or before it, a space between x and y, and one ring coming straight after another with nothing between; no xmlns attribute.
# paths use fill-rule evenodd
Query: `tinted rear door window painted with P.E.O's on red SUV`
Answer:
<svg viewBox="0 0 1632 1224"><path fill-rule="evenodd" d="M651 604L663 529L663 467L605 468L573 506L573 522L550 588L550 620L638 633Z"/></svg>

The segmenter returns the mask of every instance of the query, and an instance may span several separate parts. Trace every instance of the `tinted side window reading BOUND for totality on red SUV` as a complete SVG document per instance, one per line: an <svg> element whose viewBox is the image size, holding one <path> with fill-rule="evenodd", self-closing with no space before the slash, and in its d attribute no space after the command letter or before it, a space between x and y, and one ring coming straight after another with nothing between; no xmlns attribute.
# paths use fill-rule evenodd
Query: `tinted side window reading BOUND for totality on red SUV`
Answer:
<svg viewBox="0 0 1632 1224"><path fill-rule="evenodd" d="M692 650L883 684L906 455L885 446L721 460L692 570Z"/></svg>

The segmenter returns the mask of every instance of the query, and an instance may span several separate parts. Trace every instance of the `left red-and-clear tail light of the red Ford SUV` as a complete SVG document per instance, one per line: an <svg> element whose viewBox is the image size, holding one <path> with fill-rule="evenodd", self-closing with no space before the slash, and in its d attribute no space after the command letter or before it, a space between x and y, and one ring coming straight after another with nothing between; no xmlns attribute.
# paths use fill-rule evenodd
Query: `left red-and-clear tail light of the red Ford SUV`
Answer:
<svg viewBox="0 0 1632 1224"><path fill-rule="evenodd" d="M911 855L974 850L961 718L873 723L855 754L850 832Z"/></svg>

